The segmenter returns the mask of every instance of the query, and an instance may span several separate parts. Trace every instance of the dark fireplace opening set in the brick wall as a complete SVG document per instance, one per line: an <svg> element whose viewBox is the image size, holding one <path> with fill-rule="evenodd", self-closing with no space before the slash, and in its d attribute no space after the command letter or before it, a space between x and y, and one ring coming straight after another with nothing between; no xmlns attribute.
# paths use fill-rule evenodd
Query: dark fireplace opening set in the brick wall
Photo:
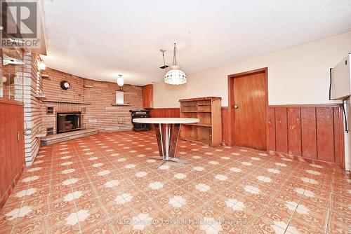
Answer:
<svg viewBox="0 0 351 234"><path fill-rule="evenodd" d="M81 112L57 113L57 133L81 130Z"/></svg>

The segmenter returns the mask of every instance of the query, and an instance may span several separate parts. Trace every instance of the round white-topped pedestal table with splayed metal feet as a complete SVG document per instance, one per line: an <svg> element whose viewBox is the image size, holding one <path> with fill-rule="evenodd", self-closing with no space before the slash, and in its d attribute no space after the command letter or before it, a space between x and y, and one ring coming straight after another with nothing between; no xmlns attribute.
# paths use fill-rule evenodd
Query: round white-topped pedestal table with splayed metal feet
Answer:
<svg viewBox="0 0 351 234"><path fill-rule="evenodd" d="M133 122L154 124L157 145L159 146L159 155L161 156L152 157L153 159L161 160L157 168L166 161L187 163L187 160L180 160L175 157L180 124L198 123L199 118L134 118Z"/></svg>

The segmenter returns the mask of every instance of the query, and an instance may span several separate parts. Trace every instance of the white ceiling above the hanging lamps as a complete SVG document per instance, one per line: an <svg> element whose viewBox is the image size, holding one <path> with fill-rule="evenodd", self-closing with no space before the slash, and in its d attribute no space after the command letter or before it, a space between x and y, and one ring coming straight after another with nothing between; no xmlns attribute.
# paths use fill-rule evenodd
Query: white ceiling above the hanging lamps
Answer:
<svg viewBox="0 0 351 234"><path fill-rule="evenodd" d="M45 0L48 67L100 81L162 81L351 30L350 0Z"/></svg>

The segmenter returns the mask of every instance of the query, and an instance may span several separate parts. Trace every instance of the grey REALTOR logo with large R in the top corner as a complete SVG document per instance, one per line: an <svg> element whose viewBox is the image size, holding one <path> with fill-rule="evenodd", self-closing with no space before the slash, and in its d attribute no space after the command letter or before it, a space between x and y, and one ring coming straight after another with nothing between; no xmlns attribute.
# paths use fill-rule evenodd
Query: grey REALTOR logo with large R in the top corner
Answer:
<svg viewBox="0 0 351 234"><path fill-rule="evenodd" d="M37 0L0 0L3 47L39 48L41 19Z"/></svg>

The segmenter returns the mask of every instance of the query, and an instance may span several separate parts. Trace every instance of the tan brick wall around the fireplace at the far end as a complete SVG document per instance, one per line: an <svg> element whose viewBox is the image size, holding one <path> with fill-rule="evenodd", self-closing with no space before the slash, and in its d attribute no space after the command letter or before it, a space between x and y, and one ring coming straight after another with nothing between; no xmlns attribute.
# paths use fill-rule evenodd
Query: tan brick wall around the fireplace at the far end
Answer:
<svg viewBox="0 0 351 234"><path fill-rule="evenodd" d="M46 68L48 78L43 79L46 99L42 102L43 129L54 128L58 111L81 111L83 128L97 128L100 131L131 130L131 109L143 108L143 92L140 86L124 85L124 102L130 106L113 106L116 102L117 83L93 81ZM68 81L71 88L62 90L61 81ZM71 103L63 103L71 102ZM48 115L46 107L52 106L54 113Z"/></svg>

